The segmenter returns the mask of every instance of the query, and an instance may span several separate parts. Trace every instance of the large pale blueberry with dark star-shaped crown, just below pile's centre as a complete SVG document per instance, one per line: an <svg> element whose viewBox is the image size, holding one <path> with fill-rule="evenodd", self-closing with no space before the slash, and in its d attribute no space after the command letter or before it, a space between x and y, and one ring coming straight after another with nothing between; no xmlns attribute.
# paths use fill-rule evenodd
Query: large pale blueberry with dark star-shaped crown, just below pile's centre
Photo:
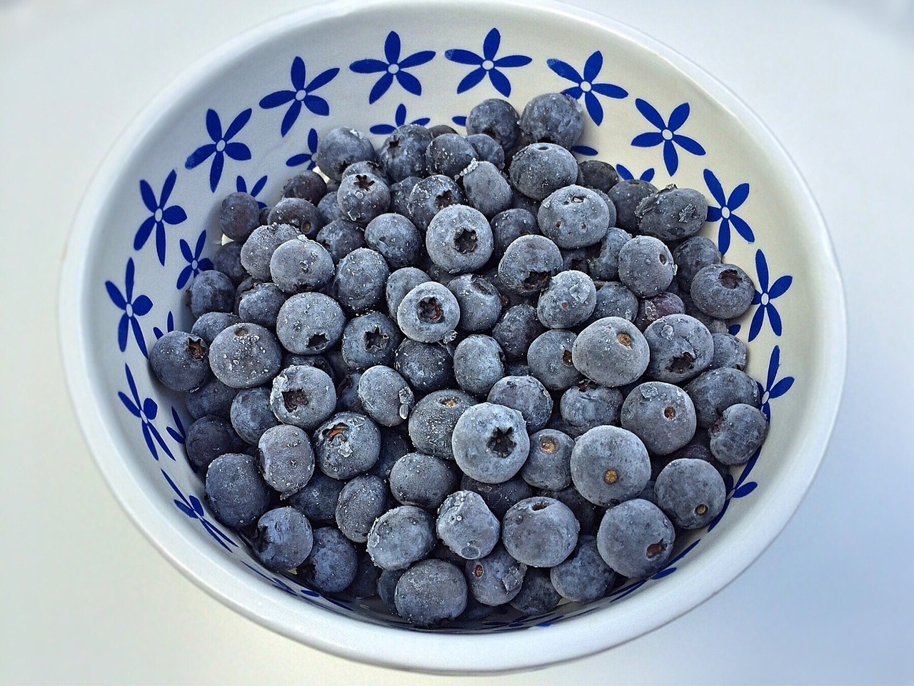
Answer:
<svg viewBox="0 0 914 686"><path fill-rule="evenodd" d="M454 424L451 445L463 473L488 484L514 477L530 452L524 416L492 402L462 413Z"/></svg>

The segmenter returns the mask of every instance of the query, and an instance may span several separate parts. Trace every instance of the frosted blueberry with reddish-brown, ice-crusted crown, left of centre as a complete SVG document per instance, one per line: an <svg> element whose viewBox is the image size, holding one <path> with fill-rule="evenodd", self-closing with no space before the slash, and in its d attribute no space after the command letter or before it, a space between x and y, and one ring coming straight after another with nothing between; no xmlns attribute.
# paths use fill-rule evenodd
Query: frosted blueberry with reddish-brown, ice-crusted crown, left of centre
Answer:
<svg viewBox="0 0 914 686"><path fill-rule="evenodd" d="M381 453L377 424L363 414L336 413L314 431L314 456L328 477L365 474Z"/></svg>

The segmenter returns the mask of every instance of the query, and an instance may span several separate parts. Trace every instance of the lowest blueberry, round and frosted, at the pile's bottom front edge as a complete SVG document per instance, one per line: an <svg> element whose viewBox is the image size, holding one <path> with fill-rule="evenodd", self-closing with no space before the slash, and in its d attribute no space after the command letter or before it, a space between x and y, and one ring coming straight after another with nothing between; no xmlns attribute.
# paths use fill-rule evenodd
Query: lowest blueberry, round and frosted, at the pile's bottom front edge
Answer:
<svg viewBox="0 0 914 686"><path fill-rule="evenodd" d="M466 608L466 580L452 563L423 560L397 582L394 603L399 616L418 627L456 619Z"/></svg>

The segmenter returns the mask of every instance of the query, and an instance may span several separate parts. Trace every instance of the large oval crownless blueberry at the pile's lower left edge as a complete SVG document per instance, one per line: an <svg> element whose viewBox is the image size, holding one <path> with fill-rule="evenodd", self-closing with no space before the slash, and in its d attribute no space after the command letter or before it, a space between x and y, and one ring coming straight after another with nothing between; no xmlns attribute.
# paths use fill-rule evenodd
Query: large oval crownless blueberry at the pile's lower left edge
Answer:
<svg viewBox="0 0 914 686"><path fill-rule="evenodd" d="M227 453L207 468L206 493L216 519L228 527L246 527L270 505L270 488L250 455Z"/></svg>

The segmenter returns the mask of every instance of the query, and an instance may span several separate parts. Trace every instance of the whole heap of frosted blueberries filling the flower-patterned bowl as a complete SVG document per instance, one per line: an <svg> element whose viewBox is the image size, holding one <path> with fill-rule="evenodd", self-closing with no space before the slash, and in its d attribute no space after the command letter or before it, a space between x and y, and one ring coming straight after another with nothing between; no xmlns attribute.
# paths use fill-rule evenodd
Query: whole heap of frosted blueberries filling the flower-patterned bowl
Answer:
<svg viewBox="0 0 914 686"><path fill-rule="evenodd" d="M337 128L160 338L190 464L269 569L420 627L587 603L664 567L767 432L727 320L754 286L696 190L578 163L577 101L468 135Z"/></svg>

